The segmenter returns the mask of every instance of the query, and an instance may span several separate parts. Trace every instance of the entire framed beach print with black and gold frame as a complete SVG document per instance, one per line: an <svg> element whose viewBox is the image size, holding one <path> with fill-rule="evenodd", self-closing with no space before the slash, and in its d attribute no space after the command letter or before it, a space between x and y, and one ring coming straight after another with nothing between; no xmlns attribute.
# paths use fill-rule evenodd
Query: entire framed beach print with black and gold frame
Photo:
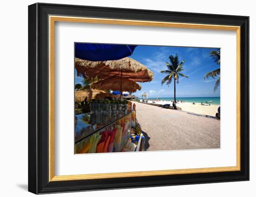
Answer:
<svg viewBox="0 0 256 197"><path fill-rule="evenodd" d="M28 191L249 180L249 17L28 6Z"/></svg>

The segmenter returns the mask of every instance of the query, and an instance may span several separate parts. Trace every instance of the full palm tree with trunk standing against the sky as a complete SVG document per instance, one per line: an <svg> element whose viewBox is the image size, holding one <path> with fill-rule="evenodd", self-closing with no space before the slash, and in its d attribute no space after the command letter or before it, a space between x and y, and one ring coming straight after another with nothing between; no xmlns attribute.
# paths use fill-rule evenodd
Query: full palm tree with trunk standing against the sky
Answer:
<svg viewBox="0 0 256 197"><path fill-rule="evenodd" d="M176 102L176 81L179 83L179 77L186 77L188 76L181 73L182 70L184 70L183 64L185 60L182 60L182 62L179 61L179 57L176 54L175 57L173 55L169 56L170 63L165 62L165 65L167 66L167 70L162 70L161 73L167 74L162 80L162 85L166 83L166 85L169 86L169 84L172 82L172 79L174 79L174 102Z"/></svg>

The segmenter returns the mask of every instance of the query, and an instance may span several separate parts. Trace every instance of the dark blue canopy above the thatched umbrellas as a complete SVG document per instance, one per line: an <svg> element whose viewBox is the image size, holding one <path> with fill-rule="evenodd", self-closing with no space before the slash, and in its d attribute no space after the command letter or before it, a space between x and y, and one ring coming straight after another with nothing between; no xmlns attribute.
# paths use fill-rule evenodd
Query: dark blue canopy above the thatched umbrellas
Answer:
<svg viewBox="0 0 256 197"><path fill-rule="evenodd" d="M137 45L75 43L75 57L89 61L118 60L132 55Z"/></svg>

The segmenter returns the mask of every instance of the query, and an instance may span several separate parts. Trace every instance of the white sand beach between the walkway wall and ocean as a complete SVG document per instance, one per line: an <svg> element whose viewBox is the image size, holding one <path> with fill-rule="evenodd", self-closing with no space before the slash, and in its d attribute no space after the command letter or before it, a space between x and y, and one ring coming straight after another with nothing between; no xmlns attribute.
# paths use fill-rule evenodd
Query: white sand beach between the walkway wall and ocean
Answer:
<svg viewBox="0 0 256 197"><path fill-rule="evenodd" d="M149 103L152 103L153 101L148 101ZM154 101L155 104L170 104L172 105L171 101ZM192 102L185 102L185 103L177 103L177 107L182 108L182 111L187 111L187 112L193 112L196 114L204 114L204 115L211 115L215 116L216 113L218 112L218 107L219 105L201 105L201 103L195 103L192 104Z"/></svg>

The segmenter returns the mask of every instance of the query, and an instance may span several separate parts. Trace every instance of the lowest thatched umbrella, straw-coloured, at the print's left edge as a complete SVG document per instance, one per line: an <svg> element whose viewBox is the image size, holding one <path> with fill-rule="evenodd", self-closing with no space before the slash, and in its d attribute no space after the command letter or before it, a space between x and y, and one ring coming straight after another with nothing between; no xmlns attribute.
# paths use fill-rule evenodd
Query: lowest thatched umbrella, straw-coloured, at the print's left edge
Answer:
<svg viewBox="0 0 256 197"><path fill-rule="evenodd" d="M114 96L99 89L84 89L74 92L74 99L76 102L83 102L86 97L87 101L90 101L91 99L104 99L105 97L113 98Z"/></svg>

